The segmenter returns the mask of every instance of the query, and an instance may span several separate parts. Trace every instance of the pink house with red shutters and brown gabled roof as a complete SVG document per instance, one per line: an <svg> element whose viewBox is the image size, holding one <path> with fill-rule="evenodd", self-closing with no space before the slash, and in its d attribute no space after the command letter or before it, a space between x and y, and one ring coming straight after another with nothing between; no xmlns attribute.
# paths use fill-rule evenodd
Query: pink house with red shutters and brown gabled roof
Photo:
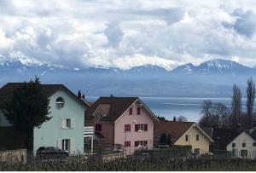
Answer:
<svg viewBox="0 0 256 173"><path fill-rule="evenodd" d="M153 148L154 113L137 97L100 97L85 111L85 126L94 126L95 143L124 147L126 154Z"/></svg>

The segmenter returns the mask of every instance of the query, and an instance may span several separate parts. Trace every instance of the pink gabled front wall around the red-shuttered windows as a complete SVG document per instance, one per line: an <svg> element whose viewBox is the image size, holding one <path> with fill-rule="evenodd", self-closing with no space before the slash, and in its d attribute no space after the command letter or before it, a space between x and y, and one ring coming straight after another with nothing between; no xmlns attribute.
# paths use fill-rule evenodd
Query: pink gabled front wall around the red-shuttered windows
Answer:
<svg viewBox="0 0 256 173"><path fill-rule="evenodd" d="M127 154L132 154L136 149L139 149L139 147L135 147L135 141L148 141L148 149L153 148L154 122L152 116L144 107L141 107L141 113L137 115L138 103L132 107L132 115L129 115L129 110L127 110L114 125L115 144L125 146L125 141L131 141L131 147L125 147ZM131 131L125 132L125 124L131 124ZM141 132L135 131L135 124L148 124L148 130Z"/></svg>

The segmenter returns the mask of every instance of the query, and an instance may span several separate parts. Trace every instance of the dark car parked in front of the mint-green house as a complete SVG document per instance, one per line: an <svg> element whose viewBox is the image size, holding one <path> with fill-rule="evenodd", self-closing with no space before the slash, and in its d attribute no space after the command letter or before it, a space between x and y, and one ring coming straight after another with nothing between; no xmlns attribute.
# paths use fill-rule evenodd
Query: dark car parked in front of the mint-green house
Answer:
<svg viewBox="0 0 256 173"><path fill-rule="evenodd" d="M39 147L37 151L37 157L40 159L65 158L68 154L58 147Z"/></svg>

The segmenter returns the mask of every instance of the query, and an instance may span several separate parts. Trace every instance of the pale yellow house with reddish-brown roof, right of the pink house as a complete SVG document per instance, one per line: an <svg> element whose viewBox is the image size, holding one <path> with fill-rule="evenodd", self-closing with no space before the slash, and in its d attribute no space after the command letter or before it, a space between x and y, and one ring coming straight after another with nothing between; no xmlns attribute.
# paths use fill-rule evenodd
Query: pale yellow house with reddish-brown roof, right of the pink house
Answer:
<svg viewBox="0 0 256 173"><path fill-rule="evenodd" d="M172 145L191 146L194 153L209 153L212 138L194 122L155 122L154 141L156 144L160 141L162 134L171 137Z"/></svg>

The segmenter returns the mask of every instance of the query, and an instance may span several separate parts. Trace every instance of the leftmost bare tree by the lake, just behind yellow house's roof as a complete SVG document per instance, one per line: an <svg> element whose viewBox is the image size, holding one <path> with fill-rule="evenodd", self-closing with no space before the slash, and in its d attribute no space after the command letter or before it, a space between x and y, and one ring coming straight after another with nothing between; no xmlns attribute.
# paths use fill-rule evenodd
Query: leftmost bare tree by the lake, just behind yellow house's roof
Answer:
<svg viewBox="0 0 256 173"><path fill-rule="evenodd" d="M202 103L202 110L201 110L201 114L202 117L199 121L199 124L202 127L211 127L211 122L210 122L210 116L212 114L212 101L203 101Z"/></svg>

